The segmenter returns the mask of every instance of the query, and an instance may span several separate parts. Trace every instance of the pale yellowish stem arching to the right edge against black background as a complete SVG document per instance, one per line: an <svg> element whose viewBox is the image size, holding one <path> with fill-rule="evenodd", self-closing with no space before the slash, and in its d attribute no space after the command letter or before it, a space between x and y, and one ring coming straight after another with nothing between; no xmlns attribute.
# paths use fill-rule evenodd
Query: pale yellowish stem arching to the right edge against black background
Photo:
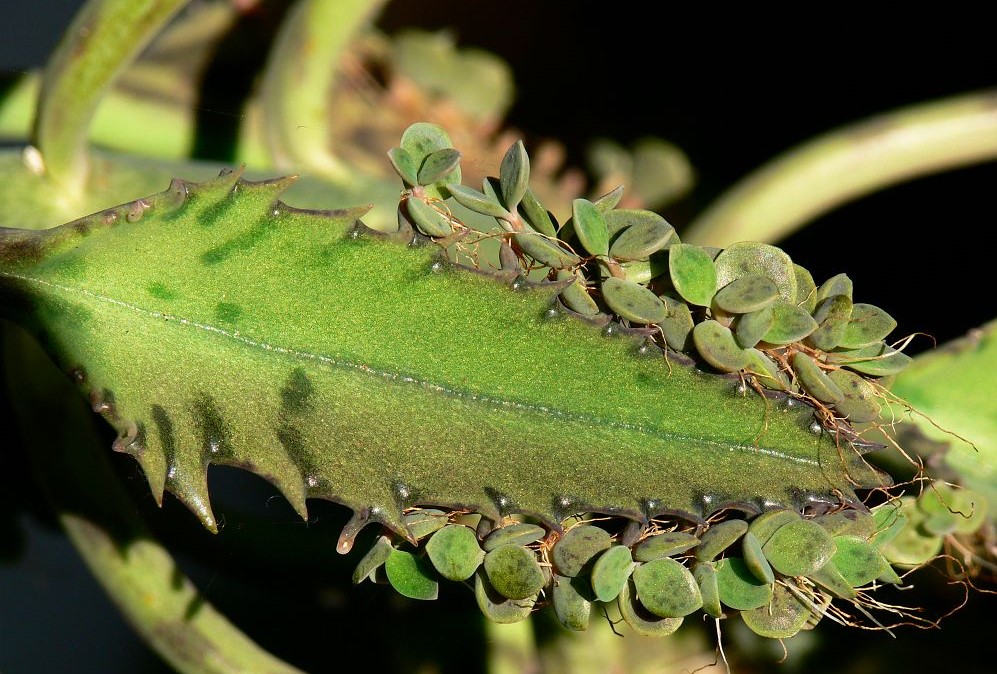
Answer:
<svg viewBox="0 0 997 674"><path fill-rule="evenodd" d="M682 232L698 245L779 240L849 200L997 159L997 91L903 108L832 131L741 180Z"/></svg>

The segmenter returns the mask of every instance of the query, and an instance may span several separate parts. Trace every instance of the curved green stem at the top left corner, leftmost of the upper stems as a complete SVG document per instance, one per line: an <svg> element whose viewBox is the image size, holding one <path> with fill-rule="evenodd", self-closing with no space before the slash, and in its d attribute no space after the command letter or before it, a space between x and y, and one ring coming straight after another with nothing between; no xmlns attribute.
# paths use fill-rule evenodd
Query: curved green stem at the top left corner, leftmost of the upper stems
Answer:
<svg viewBox="0 0 997 674"><path fill-rule="evenodd" d="M45 171L79 198L87 179L87 133L114 79L187 0L89 0L45 69L34 145Z"/></svg>

